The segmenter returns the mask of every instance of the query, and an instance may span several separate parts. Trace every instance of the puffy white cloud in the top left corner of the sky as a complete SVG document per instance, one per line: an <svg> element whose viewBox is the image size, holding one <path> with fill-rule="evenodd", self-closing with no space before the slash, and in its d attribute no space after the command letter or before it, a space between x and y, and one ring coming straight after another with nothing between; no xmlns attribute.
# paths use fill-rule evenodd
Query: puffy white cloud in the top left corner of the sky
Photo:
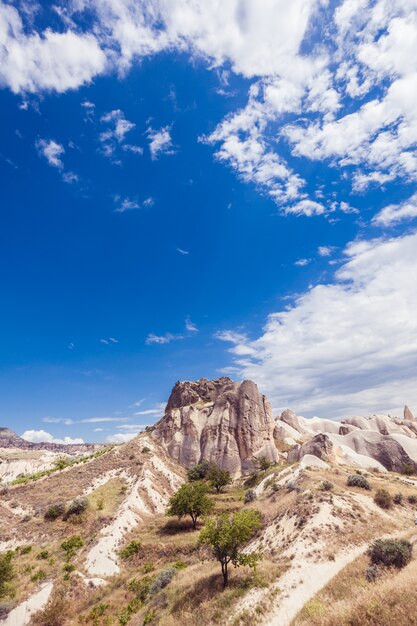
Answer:
<svg viewBox="0 0 417 626"><path fill-rule="evenodd" d="M26 34L17 9L0 2L0 84L14 93L75 89L105 66L94 35L50 29Z"/></svg>

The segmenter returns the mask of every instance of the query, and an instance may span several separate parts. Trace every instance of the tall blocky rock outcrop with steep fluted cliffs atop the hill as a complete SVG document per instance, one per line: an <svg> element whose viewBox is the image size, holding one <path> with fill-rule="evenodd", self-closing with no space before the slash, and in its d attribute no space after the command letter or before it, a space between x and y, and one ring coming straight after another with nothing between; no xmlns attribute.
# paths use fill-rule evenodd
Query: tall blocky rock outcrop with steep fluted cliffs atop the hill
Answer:
<svg viewBox="0 0 417 626"><path fill-rule="evenodd" d="M271 406L250 380L178 382L152 436L185 467L203 459L238 476L255 457L276 461Z"/></svg>

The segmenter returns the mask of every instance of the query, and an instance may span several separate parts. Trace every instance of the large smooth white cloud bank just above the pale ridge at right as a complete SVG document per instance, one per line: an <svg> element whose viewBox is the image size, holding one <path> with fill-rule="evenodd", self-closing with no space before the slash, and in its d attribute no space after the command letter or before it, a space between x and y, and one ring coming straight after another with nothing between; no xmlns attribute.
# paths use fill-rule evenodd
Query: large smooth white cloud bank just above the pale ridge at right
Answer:
<svg viewBox="0 0 417 626"><path fill-rule="evenodd" d="M271 314L258 339L235 337L234 366L274 406L332 418L417 404L417 234L346 255L333 283Z"/></svg>

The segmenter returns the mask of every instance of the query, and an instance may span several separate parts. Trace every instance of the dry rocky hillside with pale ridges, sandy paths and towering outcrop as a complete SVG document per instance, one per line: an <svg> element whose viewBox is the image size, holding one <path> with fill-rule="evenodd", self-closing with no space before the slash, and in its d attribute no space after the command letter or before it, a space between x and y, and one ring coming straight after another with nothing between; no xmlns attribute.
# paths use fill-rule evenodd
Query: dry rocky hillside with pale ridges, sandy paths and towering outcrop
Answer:
<svg viewBox="0 0 417 626"><path fill-rule="evenodd" d="M7 429L3 440L11 447L0 470L7 455L53 464L64 452L20 447ZM261 457L270 462L262 469ZM336 422L286 410L273 419L251 381L179 382L150 432L67 458L1 489L0 558L12 551L13 578L0 597L0 626L417 623L417 592L407 583L416 558L401 574L367 579L373 540L417 539L417 420L407 407L403 418ZM233 569L226 590L219 564L198 545L204 521L194 529L166 517L186 468L202 460L234 477L220 493L206 482L215 515L254 509L262 518L245 549L263 558L256 572ZM409 596L394 593L406 585ZM384 605L379 589L393 602L383 619L367 620L368 597L373 610Z"/></svg>

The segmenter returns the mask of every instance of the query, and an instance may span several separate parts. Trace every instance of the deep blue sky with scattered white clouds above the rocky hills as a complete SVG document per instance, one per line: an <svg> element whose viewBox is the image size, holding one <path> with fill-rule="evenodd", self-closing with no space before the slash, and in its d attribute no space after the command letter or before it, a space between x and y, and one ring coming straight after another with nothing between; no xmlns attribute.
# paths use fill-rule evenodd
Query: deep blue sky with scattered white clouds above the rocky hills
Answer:
<svg viewBox="0 0 417 626"><path fill-rule="evenodd" d="M122 441L224 373L417 409L416 41L411 0L0 2L1 423Z"/></svg>

